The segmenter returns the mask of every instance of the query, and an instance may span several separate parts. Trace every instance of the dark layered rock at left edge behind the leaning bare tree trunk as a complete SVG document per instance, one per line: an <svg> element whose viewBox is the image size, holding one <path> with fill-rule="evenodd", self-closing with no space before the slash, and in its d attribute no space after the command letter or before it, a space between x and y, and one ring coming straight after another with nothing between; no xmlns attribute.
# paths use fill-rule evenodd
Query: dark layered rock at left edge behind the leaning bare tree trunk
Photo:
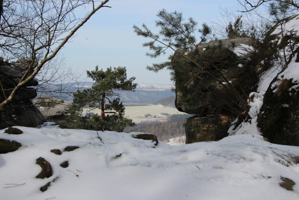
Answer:
<svg viewBox="0 0 299 200"><path fill-rule="evenodd" d="M27 67L23 63L10 64L0 61L0 81L5 91L5 93L0 91L0 102L9 96L10 91L19 82L26 70ZM34 88L30 87L36 85L38 85L37 80L32 79L16 92L13 101L0 112L0 129L11 126L36 127L45 122L45 118L31 102L37 93Z"/></svg>

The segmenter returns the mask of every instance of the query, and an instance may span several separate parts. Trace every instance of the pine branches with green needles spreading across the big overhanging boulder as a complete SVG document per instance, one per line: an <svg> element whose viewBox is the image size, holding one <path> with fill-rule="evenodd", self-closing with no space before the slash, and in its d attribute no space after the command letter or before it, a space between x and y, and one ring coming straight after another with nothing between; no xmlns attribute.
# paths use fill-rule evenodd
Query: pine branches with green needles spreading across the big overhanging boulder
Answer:
<svg viewBox="0 0 299 200"><path fill-rule="evenodd" d="M232 65L234 54L228 55L228 61L213 62L213 56L217 53L230 52L221 50L221 40L205 52L198 47L196 32L201 34L200 42L217 39L206 23L198 29L198 23L193 18L184 21L182 13L167 12L164 9L157 16L160 18L156 21L156 26L160 28L159 34L154 34L145 24L141 28L134 25L134 31L137 35L152 39L143 44L152 51L147 52L149 57L156 58L165 54L167 49L174 53L168 61L152 64L147 69L154 72L170 70L171 80L175 83L174 91L182 94L177 102L190 114L216 114L215 111L227 115L242 114L242 108L247 104L248 91L240 88L239 84L234 85L222 71Z"/></svg>

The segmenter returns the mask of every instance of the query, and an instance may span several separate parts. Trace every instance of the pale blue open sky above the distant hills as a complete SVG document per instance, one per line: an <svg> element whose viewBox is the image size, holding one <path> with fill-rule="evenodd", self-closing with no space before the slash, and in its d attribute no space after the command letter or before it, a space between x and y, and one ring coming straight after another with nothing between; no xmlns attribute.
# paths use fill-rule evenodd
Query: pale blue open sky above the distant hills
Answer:
<svg viewBox="0 0 299 200"><path fill-rule="evenodd" d="M132 26L134 24L141 26L145 23L157 32L156 14L163 8L169 12L175 10L182 12L185 19L191 16L199 25L203 22L209 24L221 18L219 7L237 10L238 2L237 0L110 0L106 5L112 8L103 7L97 11L77 31L76 37L62 49L66 67L82 73L81 80L87 78L86 70L94 70L98 65L99 69L103 70L107 67L126 67L127 77L136 77L136 83L172 84L169 71L154 73L146 70L147 65L166 61L171 52L155 59L145 56L149 49L142 47L142 43L148 39L137 36Z"/></svg>

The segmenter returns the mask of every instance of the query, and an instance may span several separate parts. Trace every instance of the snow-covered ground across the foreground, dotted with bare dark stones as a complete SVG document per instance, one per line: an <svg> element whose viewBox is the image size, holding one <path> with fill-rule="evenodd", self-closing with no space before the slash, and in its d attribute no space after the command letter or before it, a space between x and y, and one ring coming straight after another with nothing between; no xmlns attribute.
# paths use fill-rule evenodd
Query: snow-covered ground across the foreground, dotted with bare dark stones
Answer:
<svg viewBox="0 0 299 200"><path fill-rule="evenodd" d="M0 130L1 139L22 143L19 150L0 154L3 200L299 199L299 165L292 159L299 147L271 144L262 136L155 147L132 137L138 133L99 132L101 142L96 131L17 128L24 133ZM72 145L80 148L50 152ZM51 164L50 178L35 178L39 157ZM66 160L69 166L62 168ZM281 177L295 182L294 191L280 187ZM48 190L39 190L54 178Z"/></svg>

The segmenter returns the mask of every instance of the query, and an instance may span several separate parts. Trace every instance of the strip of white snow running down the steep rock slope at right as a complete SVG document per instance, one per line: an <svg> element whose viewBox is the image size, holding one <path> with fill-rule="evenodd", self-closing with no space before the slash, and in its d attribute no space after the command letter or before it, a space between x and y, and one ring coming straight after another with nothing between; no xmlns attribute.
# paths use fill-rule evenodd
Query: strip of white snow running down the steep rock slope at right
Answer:
<svg viewBox="0 0 299 200"><path fill-rule="evenodd" d="M294 31L299 31L299 24L298 24L298 16L293 17L291 20L285 23L283 27L284 34L290 34L289 31L294 29ZM289 31L287 31L289 30ZM277 28L272 34L280 34L281 30ZM298 32L297 32L298 33ZM272 41L273 42L273 41ZM295 44L293 49L298 48L298 44ZM280 80L283 79L293 79L293 83L298 83L299 81L299 63L296 63L295 60L297 58L297 53L292 55L291 58L291 49L290 47L285 47L285 54L287 60L290 59L290 62L288 66L284 69L283 63L284 63L284 52L283 49L281 49L279 52L280 59L275 61L273 67L271 67L269 70L264 72L260 76L260 80L258 82L258 88L257 92L252 92L249 94L249 97L253 97L252 101L248 100L248 105L250 106L250 110L248 114L251 117L251 120L248 122L242 122L235 130L234 130L234 123L228 130L229 135L242 135L242 134L254 134L254 135L261 135L260 129L258 127L257 119L258 114L260 112L260 108L263 105L263 97L266 92L266 90L269 88L271 81L277 76L278 80L272 83L271 88L273 89L273 92L276 90L276 86L279 84ZM263 64L263 62L261 63ZM299 85L295 85L292 88L297 88ZM291 90L290 88L289 90ZM288 105L282 105L283 107L287 107Z"/></svg>

